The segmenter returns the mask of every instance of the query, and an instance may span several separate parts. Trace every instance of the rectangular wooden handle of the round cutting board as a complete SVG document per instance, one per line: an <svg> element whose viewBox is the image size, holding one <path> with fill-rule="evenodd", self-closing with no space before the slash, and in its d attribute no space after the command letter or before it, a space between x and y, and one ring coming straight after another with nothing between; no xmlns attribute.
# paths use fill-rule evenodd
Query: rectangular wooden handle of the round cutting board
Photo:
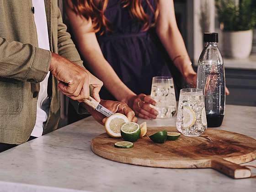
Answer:
<svg viewBox="0 0 256 192"><path fill-rule="evenodd" d="M249 168L220 158L211 160L211 168L234 179L248 178L251 176L251 170Z"/></svg>

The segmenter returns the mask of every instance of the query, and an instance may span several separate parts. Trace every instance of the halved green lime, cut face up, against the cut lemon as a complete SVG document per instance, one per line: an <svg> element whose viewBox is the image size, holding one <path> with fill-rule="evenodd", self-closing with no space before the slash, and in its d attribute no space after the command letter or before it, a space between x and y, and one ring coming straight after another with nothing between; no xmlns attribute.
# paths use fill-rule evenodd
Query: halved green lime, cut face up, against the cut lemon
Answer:
<svg viewBox="0 0 256 192"><path fill-rule="evenodd" d="M137 141L140 135L140 127L137 123L125 123L121 128L121 135L126 141Z"/></svg>

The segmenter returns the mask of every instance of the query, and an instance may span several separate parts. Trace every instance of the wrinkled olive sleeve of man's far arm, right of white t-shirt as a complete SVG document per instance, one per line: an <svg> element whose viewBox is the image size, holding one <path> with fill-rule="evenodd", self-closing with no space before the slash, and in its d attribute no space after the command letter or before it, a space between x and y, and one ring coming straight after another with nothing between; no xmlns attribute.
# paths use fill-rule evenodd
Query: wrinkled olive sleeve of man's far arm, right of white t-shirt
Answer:
<svg viewBox="0 0 256 192"><path fill-rule="evenodd" d="M70 34L67 32L67 27L62 21L61 13L59 10L58 13L58 54L63 56L70 61L83 66L83 61L80 58L80 55L75 48L75 44L73 43Z"/></svg>

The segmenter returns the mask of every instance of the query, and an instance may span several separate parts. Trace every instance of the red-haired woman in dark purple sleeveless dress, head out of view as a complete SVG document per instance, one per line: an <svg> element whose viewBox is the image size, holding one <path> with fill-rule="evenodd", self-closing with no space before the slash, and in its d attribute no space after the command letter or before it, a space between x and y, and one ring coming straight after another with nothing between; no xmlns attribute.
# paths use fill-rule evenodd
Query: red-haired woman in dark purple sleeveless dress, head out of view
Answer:
<svg viewBox="0 0 256 192"><path fill-rule="evenodd" d="M69 0L66 13L85 67L104 83L101 98L127 102L137 116L156 118L149 106L155 105L152 77L171 75L161 46L195 85L173 0Z"/></svg>

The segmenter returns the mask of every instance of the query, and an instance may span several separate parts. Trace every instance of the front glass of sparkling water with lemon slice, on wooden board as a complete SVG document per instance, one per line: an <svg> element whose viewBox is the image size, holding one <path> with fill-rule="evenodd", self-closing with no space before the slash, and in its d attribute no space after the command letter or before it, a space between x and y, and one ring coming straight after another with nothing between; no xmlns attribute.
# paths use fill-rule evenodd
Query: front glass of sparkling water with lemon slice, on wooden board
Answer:
<svg viewBox="0 0 256 192"><path fill-rule="evenodd" d="M199 136L207 128L203 91L181 89L176 128L185 136Z"/></svg>

